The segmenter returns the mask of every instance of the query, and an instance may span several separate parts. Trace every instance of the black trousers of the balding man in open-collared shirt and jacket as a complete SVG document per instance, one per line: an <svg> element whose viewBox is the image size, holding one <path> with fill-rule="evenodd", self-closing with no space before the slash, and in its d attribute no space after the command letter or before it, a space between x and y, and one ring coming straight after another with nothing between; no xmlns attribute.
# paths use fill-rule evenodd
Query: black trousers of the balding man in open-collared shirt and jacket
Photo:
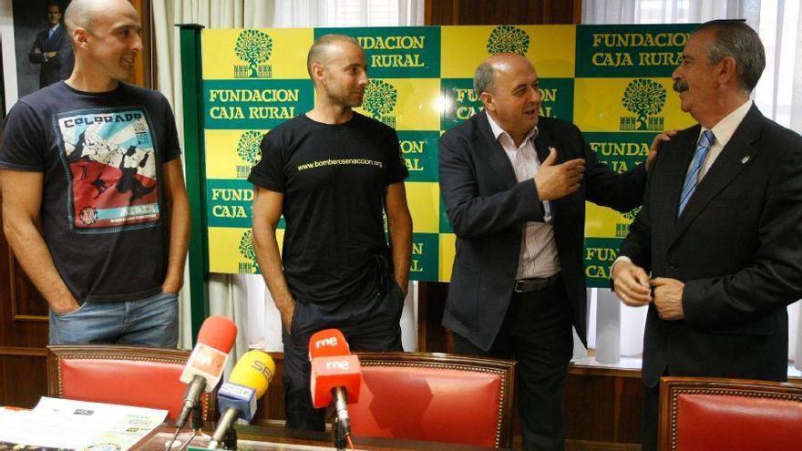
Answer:
<svg viewBox="0 0 802 451"><path fill-rule="evenodd" d="M562 280L537 292L514 293L488 351L454 334L458 354L518 360L518 410L525 449L562 451L562 397L573 355L571 307Z"/></svg>

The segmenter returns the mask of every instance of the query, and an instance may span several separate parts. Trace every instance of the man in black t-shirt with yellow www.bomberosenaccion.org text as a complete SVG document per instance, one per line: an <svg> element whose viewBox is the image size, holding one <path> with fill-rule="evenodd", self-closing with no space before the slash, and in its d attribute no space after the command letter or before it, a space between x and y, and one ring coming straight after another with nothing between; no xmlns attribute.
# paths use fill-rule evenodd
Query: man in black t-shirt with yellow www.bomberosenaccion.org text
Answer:
<svg viewBox="0 0 802 451"><path fill-rule="evenodd" d="M322 36L307 68L314 108L265 135L249 180L253 245L282 316L286 425L324 430L309 392L309 338L334 327L351 349L401 350L412 218L395 130L351 110L368 83L362 48L350 36Z"/></svg>

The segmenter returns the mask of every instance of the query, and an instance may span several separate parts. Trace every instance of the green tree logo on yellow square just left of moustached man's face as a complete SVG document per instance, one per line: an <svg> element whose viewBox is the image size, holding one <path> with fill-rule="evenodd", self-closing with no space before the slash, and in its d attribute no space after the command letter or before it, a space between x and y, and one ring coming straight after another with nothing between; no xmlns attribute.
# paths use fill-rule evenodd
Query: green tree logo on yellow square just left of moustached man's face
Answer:
<svg viewBox="0 0 802 451"><path fill-rule="evenodd" d="M649 78L635 78L623 91L623 108L635 116L621 118L622 130L661 131L665 118L657 116L665 106L665 87Z"/></svg>

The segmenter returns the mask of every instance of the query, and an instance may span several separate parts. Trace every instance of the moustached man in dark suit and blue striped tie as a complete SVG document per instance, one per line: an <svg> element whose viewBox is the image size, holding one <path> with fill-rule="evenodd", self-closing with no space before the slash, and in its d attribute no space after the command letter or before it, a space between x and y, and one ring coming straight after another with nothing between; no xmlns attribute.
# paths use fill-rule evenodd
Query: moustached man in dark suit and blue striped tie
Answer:
<svg viewBox="0 0 802 451"><path fill-rule="evenodd" d="M690 36L674 90L699 125L664 145L613 266L622 301L649 304L645 450L657 448L663 374L787 379L786 307L802 297L802 138L749 98L765 61L743 22Z"/></svg>

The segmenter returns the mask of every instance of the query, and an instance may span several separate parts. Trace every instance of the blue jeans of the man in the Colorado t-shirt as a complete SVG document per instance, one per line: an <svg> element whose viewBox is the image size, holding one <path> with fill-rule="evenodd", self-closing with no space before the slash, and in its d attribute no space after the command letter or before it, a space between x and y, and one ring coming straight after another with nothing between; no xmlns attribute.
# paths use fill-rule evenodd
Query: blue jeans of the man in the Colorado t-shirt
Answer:
<svg viewBox="0 0 802 451"><path fill-rule="evenodd" d="M110 343L174 348L179 343L178 295L84 302L75 312L50 311L50 344Z"/></svg>

